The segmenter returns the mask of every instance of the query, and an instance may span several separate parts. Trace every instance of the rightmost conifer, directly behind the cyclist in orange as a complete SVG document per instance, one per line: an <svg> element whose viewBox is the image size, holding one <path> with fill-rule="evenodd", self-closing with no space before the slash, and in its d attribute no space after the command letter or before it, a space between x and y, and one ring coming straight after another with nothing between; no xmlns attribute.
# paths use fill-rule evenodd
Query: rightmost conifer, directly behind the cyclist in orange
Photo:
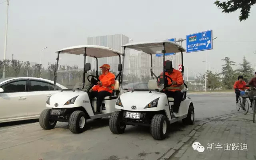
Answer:
<svg viewBox="0 0 256 160"><path fill-rule="evenodd" d="M248 82L253 76L253 69L251 67L250 62L248 62L244 56L243 63L240 63L240 69L237 71L240 75L244 76L244 81Z"/></svg>

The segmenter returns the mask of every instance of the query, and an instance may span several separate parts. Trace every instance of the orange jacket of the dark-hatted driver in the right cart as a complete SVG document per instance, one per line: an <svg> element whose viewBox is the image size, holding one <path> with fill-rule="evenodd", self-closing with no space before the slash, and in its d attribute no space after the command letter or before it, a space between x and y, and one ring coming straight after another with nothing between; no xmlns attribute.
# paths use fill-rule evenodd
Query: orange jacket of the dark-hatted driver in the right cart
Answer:
<svg viewBox="0 0 256 160"><path fill-rule="evenodd" d="M163 75L163 73L161 73L161 75ZM168 75L172 81L176 81L177 85L171 85L170 87L167 87L166 89L168 91L180 91L180 86L183 85L183 77L182 77L182 73L176 69L173 69L172 73L165 72L165 75ZM162 78L162 77L161 77ZM172 84L171 80L169 78L168 79L168 85Z"/></svg>

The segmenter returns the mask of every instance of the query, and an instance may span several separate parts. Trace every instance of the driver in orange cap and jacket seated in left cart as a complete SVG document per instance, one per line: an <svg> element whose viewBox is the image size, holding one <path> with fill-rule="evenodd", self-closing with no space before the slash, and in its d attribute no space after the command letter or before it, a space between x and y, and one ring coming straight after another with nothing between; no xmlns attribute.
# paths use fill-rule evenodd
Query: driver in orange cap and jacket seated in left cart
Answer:
<svg viewBox="0 0 256 160"><path fill-rule="evenodd" d="M97 97L96 114L100 114L100 106L102 105L104 97L110 96L112 94L115 85L115 75L110 73L110 65L104 64L100 68L102 70L102 75L99 77L100 81L97 82L97 85L94 85L92 87L92 91L88 93L91 102L94 97Z"/></svg>

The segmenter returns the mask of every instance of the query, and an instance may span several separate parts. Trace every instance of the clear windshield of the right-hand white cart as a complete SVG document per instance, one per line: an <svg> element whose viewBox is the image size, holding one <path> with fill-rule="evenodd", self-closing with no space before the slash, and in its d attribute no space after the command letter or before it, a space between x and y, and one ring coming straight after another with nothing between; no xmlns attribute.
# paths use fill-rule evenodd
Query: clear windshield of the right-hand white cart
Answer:
<svg viewBox="0 0 256 160"><path fill-rule="evenodd" d="M130 55L130 64L125 65L122 81L122 89L124 90L149 90L149 81L156 80L163 72L163 57L156 57L149 54L139 52ZM162 84L160 84L162 86Z"/></svg>

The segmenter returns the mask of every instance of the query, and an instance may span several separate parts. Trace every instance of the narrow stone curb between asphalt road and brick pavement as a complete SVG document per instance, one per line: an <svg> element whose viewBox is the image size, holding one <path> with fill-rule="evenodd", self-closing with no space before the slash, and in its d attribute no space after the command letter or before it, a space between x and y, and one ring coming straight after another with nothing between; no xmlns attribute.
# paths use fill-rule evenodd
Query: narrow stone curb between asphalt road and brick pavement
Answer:
<svg viewBox="0 0 256 160"><path fill-rule="evenodd" d="M204 122L200 122L197 126L194 127L194 129L190 131L188 136L183 137L181 142L179 142L173 148L170 148L170 150L168 150L165 154L163 154L160 158L158 158L158 160L168 160L169 158L171 158L173 154L175 154L184 144L186 144L186 142L188 142L194 136L194 134L196 134L196 130L198 130L199 128L201 128L202 125L208 122L210 121L207 120Z"/></svg>

